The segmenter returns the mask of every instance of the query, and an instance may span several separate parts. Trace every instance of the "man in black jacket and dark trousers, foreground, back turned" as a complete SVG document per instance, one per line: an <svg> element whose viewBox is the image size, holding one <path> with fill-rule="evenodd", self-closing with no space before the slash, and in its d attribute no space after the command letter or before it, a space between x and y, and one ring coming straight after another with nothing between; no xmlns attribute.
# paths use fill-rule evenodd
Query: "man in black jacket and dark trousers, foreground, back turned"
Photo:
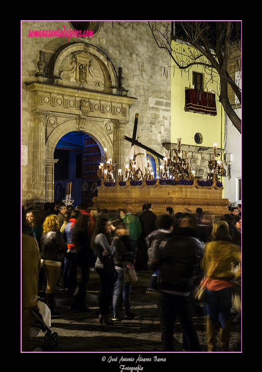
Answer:
<svg viewBox="0 0 262 372"><path fill-rule="evenodd" d="M161 339L164 351L175 351L173 327L178 316L190 351L201 351L194 327L190 291L195 273L204 254L204 243L195 236L191 220L182 216L180 228L166 237L155 249L149 251L151 269L159 268L158 290L162 296L157 299ZM191 218L191 217L190 217Z"/></svg>

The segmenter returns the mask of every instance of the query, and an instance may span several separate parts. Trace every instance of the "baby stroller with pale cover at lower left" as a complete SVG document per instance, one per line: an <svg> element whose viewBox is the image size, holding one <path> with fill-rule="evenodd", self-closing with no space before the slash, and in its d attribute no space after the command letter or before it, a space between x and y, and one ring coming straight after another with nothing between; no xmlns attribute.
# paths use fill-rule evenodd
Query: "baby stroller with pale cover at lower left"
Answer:
<svg viewBox="0 0 262 372"><path fill-rule="evenodd" d="M41 330L44 333L44 346L47 348L56 347L58 345L58 333L50 330L51 315L50 309L46 304L39 301L33 308L33 320L31 324L31 341L38 335Z"/></svg>

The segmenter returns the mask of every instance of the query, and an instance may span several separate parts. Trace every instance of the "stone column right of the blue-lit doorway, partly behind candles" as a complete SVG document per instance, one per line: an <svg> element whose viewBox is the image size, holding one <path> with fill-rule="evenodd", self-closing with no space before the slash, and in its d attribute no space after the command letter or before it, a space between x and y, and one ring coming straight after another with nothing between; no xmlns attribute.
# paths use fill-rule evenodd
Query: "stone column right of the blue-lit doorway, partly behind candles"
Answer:
<svg viewBox="0 0 262 372"><path fill-rule="evenodd" d="M120 123L119 120L112 120L114 124L113 132L113 146L114 146L114 159L116 163L116 180L118 179L118 169L122 169L122 174L125 174L125 164L127 163L124 135L125 123Z"/></svg>

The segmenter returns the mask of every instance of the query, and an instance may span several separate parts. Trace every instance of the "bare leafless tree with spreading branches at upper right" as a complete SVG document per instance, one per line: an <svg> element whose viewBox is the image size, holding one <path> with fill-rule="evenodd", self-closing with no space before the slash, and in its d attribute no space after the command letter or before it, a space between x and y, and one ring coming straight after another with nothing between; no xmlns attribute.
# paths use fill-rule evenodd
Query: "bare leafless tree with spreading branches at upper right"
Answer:
<svg viewBox="0 0 262 372"><path fill-rule="evenodd" d="M176 68L188 71L194 65L203 66L209 70L210 79L213 79L213 70L216 70L220 77L219 101L232 124L241 133L241 120L228 97L229 84L241 104L241 90L228 71L230 45L233 41L240 40L239 25L223 21L178 21L175 24L179 26L179 30L176 32L176 29L173 34L170 22L148 22L158 47L166 51ZM181 43L181 50L171 47L172 39ZM186 52L182 49L183 44L194 47L194 51L188 48Z"/></svg>

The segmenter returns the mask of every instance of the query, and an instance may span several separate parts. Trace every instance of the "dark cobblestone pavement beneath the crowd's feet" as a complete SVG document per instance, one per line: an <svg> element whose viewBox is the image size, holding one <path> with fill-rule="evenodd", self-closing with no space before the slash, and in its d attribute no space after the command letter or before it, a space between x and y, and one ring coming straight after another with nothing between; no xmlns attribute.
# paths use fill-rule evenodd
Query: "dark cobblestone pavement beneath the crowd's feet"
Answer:
<svg viewBox="0 0 262 372"><path fill-rule="evenodd" d="M96 353L98 353L96 355L99 355L99 358L102 358L100 353L106 352L104 358L106 358L107 362L108 358L112 359L113 356L117 357L119 361L122 354L126 356L126 353L128 356L131 355L135 361L137 353L141 356L144 353L146 353L145 355L150 353L151 361L155 355L159 355L159 357L162 355L163 358L166 353L163 353L162 348L156 299L145 293L151 274L151 271L138 271L138 280L132 286L131 309L139 315L139 318L126 319L125 311L123 310L119 314L121 322L117 322L113 326L101 326L98 322L99 277L96 271L91 271L87 293L87 305L92 309L92 312L81 313L71 310L72 297L67 297L63 287L57 286L55 298L57 308L61 310L61 314L52 317L51 331L52 333L58 333L58 345L53 348L46 348L43 342L44 334L39 331L38 335L32 340L32 351L90 352L92 353L92 358ZM41 297L40 301L43 301L44 292L40 291L38 295ZM203 308L197 307L199 315L194 316L194 323L200 345L203 347L203 352L206 352ZM219 333L217 333L217 337L217 351L219 352ZM182 353L182 329L178 320L174 326L174 338L176 352ZM234 323L231 324L229 352L241 352L241 327ZM136 353L135 356L133 356L133 353ZM167 354L170 356L173 353ZM138 367L139 361L137 363L135 361L133 361L133 367ZM132 371L136 370L132 369Z"/></svg>

